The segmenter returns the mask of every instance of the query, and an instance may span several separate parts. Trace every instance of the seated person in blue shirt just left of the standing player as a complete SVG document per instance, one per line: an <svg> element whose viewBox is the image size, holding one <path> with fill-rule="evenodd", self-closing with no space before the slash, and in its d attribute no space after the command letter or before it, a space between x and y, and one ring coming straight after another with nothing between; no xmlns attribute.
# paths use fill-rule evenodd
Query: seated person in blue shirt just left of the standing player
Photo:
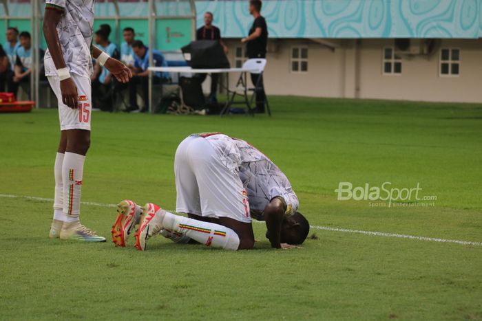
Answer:
<svg viewBox="0 0 482 321"><path fill-rule="evenodd" d="M43 61L43 53L43 50L40 49L41 61ZM15 56L14 76L10 80L9 87L12 89L12 93L17 96L19 84L23 82L30 83L30 74L32 72L32 38L29 32L21 32L20 47L18 47L17 52L15 52ZM25 89L30 91L30 86L25 87Z"/></svg>

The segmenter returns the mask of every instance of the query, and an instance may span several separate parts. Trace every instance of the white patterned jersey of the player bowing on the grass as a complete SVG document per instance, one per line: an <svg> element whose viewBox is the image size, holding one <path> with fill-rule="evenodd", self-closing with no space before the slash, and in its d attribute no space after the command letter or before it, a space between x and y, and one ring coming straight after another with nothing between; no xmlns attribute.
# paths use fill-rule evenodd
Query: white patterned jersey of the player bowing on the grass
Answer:
<svg viewBox="0 0 482 321"><path fill-rule="evenodd" d="M282 197L286 203L286 215L295 214L298 198L291 184L271 160L244 140L231 138L221 133L195 134L204 137L213 146L231 172L239 175L247 190L249 208L255 219L263 219L266 205L274 197Z"/></svg>

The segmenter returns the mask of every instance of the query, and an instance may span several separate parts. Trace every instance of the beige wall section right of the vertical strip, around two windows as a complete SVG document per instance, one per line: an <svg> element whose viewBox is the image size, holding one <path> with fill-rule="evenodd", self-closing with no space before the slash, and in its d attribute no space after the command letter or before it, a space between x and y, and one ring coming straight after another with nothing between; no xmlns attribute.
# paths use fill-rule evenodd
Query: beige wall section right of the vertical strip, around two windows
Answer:
<svg viewBox="0 0 482 321"><path fill-rule="evenodd" d="M443 40L461 50L460 75L439 76L439 51L430 57L402 58L401 75L382 74L382 47L389 40L362 41L360 98L482 102L482 39Z"/></svg>

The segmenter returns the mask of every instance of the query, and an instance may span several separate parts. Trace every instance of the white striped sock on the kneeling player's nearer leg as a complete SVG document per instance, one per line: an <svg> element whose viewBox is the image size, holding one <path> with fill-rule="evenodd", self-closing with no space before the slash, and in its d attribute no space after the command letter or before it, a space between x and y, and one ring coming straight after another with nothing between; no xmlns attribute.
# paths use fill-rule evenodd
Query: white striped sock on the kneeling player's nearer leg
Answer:
<svg viewBox="0 0 482 321"><path fill-rule="evenodd" d="M225 250L238 250L240 245L238 234L219 224L188 219L166 212L162 225L165 230L178 232L207 246L220 247Z"/></svg>

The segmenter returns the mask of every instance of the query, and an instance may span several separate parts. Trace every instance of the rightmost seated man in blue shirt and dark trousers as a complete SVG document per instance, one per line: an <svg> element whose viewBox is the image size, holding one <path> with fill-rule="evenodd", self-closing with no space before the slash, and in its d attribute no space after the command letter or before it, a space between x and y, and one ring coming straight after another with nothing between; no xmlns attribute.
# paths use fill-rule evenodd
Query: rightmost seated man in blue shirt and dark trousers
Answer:
<svg viewBox="0 0 482 321"><path fill-rule="evenodd" d="M149 47L146 47L140 40L134 41L132 44L134 50L134 70L132 78L129 81L129 108L126 111L136 111L139 109L137 105L137 86L143 89L144 108L141 112L149 111ZM152 58L154 66L167 67L167 61L163 54L158 50L152 50ZM165 72L155 72L152 77L153 84L160 84L169 81L169 74Z"/></svg>

